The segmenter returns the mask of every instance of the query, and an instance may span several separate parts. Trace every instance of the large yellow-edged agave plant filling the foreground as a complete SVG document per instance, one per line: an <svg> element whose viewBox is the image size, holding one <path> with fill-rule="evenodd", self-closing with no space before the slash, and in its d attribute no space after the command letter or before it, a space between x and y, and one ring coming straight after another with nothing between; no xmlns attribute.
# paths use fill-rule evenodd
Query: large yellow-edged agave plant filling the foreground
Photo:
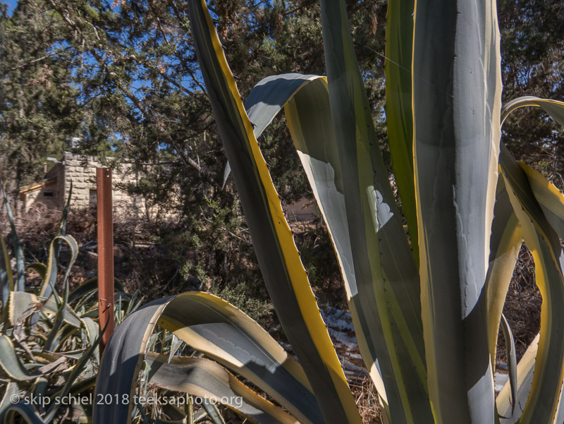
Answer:
<svg viewBox="0 0 564 424"><path fill-rule="evenodd" d="M344 1L321 0L327 77L265 78L245 105L205 1L188 4L257 259L299 363L240 310L207 293L183 293L149 303L116 329L97 393L135 392L158 323L209 358L159 365L149 355L152 372L168 375L162 387L235 394L240 406L225 404L258 423L362 422L257 143L283 108L388 422L563 423L564 196L515 162L501 143L501 125L525 106L541 107L564 124L564 103L522 97L502 107L496 2L388 1L386 122L400 205L379 150ZM517 364L501 312L523 240L534 256L543 304L541 332ZM510 379L496 398L500 325ZM94 424L129 423L133 408L97 406Z"/></svg>

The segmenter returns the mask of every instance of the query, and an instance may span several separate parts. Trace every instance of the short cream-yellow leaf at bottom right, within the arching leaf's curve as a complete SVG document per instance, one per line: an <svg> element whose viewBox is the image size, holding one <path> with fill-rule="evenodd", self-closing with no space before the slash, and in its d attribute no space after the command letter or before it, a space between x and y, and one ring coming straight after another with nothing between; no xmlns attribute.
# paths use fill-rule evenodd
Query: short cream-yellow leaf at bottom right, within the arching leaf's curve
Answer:
<svg viewBox="0 0 564 424"><path fill-rule="evenodd" d="M540 334L537 334L537 337L529 344L527 351L525 351L525 354L517 364L517 384L515 384L517 391L515 398L511 394L512 388L509 381L505 382L503 389L501 389L496 398L501 424L515 424L521 417L523 409L525 409L527 398L531 392L534 358L537 357L539 339ZM513 406L513 402L515 402L515 406Z"/></svg>

